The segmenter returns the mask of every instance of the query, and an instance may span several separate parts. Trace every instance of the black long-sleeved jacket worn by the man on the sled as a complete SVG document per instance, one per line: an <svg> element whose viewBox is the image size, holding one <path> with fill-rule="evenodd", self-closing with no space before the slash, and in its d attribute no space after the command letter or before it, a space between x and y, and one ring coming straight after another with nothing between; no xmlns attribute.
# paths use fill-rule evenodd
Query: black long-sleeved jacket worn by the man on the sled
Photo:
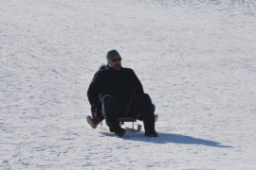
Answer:
<svg viewBox="0 0 256 170"><path fill-rule="evenodd" d="M101 96L110 94L117 98L120 105L128 106L130 99L140 93L144 93L143 88L132 69L114 70L108 66L95 74L87 91L91 106L99 107L101 107L100 94Z"/></svg>

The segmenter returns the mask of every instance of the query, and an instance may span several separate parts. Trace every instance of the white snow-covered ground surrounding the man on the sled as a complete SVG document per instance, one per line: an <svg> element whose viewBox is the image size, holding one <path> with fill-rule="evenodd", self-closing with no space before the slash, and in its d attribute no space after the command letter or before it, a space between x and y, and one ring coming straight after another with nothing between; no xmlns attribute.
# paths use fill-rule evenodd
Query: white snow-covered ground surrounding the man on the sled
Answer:
<svg viewBox="0 0 256 170"><path fill-rule="evenodd" d="M0 0L0 169L255 169L256 1ZM119 50L158 138L85 123Z"/></svg>

